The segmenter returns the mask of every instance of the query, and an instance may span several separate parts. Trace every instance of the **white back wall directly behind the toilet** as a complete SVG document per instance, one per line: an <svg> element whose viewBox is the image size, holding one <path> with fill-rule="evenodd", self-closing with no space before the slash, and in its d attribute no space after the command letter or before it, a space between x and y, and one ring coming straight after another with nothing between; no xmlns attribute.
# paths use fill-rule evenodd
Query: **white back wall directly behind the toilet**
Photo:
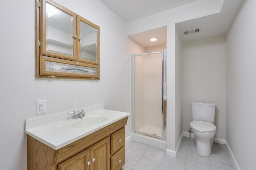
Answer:
<svg viewBox="0 0 256 170"><path fill-rule="evenodd" d="M212 102L216 138L226 139L226 38L216 36L183 43L183 131L192 122L192 101Z"/></svg>

